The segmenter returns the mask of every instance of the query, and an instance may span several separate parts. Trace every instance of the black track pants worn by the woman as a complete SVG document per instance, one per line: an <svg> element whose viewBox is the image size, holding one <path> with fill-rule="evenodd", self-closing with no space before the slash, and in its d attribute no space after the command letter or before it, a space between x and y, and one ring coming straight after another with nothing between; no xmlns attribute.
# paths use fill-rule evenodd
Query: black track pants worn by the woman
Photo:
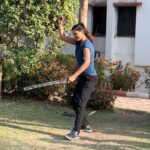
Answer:
<svg viewBox="0 0 150 150"><path fill-rule="evenodd" d="M75 131L80 132L81 126L85 127L86 125L89 125L89 122L85 116L85 108L97 82L97 77L94 76L86 75L79 77L72 100L73 108L76 114L74 125Z"/></svg>

